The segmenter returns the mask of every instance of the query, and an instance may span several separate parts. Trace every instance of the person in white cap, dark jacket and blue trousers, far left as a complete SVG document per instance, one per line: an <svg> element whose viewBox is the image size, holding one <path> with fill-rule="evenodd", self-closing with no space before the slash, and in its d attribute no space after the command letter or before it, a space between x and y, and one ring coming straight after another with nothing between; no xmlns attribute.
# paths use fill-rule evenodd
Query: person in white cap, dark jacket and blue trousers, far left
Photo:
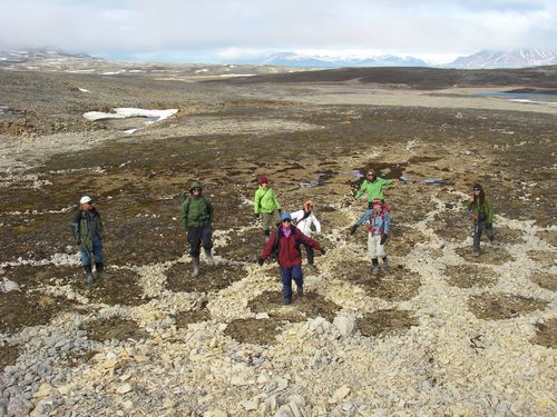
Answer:
<svg viewBox="0 0 557 417"><path fill-rule="evenodd" d="M85 269L87 284L92 285L91 262L95 261L97 278L105 276L102 240L105 239L105 229L100 220L100 214L94 206L90 197L84 196L79 200L79 211L76 212L71 221L71 236L79 247L79 257Z"/></svg>

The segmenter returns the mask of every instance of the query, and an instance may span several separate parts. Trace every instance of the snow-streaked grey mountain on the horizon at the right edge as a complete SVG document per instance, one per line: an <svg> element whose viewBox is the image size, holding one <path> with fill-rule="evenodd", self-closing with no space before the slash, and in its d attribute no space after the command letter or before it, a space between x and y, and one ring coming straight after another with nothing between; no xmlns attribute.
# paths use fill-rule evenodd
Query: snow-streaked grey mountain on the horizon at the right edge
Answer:
<svg viewBox="0 0 557 417"><path fill-rule="evenodd" d="M557 49L521 48L509 51L483 50L457 58L450 68L521 68L557 64Z"/></svg>

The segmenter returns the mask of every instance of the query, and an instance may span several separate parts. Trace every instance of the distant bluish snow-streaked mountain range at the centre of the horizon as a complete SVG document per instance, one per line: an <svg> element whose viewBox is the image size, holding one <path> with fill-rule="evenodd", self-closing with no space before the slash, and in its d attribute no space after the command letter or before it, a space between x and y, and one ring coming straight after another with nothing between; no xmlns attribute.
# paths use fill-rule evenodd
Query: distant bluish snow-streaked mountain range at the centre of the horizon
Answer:
<svg viewBox="0 0 557 417"><path fill-rule="evenodd" d="M310 67L310 68L341 68L341 67L428 67L428 63L413 57L397 57L392 54L368 58L339 58L328 56L310 56L296 52L275 53L264 59L262 63Z"/></svg>

